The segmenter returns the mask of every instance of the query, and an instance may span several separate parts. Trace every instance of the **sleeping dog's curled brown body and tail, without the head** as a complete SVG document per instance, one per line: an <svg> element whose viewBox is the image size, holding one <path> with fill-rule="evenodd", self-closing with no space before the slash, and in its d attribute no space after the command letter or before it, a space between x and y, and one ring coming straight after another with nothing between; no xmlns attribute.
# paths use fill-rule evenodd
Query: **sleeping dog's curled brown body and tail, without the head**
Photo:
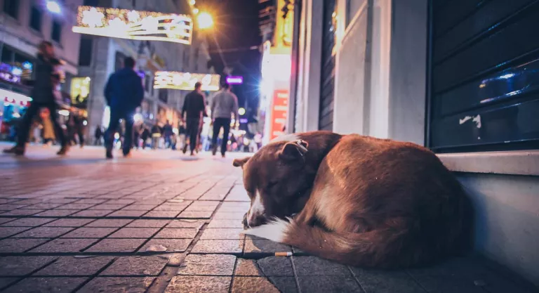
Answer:
<svg viewBox="0 0 539 293"><path fill-rule="evenodd" d="M340 263L413 266L463 249L470 226L465 200L430 150L342 136L321 160L305 208L265 233L279 229L275 240Z"/></svg>

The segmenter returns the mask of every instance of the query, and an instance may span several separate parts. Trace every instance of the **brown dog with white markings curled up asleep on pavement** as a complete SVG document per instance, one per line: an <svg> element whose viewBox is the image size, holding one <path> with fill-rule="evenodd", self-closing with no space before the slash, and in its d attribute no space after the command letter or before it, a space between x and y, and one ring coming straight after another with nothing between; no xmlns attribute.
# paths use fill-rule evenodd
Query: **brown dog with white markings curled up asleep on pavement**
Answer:
<svg viewBox="0 0 539 293"><path fill-rule="evenodd" d="M378 268L430 263L468 244L463 188L419 145L314 131L234 166L251 197L245 234Z"/></svg>

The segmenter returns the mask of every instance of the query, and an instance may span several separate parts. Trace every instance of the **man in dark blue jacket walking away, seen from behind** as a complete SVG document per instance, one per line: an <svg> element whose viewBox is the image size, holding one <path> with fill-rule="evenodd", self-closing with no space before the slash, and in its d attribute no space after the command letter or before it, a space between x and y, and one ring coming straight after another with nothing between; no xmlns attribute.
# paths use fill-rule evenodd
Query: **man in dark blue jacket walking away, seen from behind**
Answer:
<svg viewBox="0 0 539 293"><path fill-rule="evenodd" d="M124 157L129 156L133 145L133 123L135 110L144 99L142 79L135 72L135 60L128 57L124 60L124 68L110 75L105 86L105 99L110 108L109 128L105 132L105 148L107 159L112 159L114 131L119 126L119 120L126 122L123 144Z"/></svg>

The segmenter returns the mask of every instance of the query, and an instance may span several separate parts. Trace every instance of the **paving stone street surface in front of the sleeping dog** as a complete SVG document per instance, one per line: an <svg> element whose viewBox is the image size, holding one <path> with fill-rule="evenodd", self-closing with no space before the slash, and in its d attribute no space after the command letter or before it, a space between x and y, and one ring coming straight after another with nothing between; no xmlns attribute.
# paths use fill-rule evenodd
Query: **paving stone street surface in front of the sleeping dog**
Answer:
<svg viewBox="0 0 539 293"><path fill-rule="evenodd" d="M232 159L28 155L0 157L1 292L533 292L472 257L366 270L239 235L249 202Z"/></svg>

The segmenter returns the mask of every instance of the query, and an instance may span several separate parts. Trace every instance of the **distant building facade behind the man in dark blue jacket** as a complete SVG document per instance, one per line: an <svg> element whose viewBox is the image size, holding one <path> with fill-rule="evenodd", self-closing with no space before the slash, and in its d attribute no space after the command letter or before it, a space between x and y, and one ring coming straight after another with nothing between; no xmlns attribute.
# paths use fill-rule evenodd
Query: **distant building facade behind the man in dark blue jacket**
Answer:
<svg viewBox="0 0 539 293"><path fill-rule="evenodd" d="M187 1L85 1L88 6L114 7L137 11L191 14ZM110 74L123 66L123 59L131 56L137 60L136 70L144 79L145 98L137 117L145 124L164 125L167 121L178 125L185 92L172 89L154 89L154 72L206 69L208 53L204 39L192 38L192 44L166 41L135 41L82 35L79 77L91 80L88 94L88 133L98 126L106 127L109 109L105 105L103 89ZM206 52L206 53L205 53ZM204 64L204 66L203 66ZM142 121L140 121L142 122Z"/></svg>

